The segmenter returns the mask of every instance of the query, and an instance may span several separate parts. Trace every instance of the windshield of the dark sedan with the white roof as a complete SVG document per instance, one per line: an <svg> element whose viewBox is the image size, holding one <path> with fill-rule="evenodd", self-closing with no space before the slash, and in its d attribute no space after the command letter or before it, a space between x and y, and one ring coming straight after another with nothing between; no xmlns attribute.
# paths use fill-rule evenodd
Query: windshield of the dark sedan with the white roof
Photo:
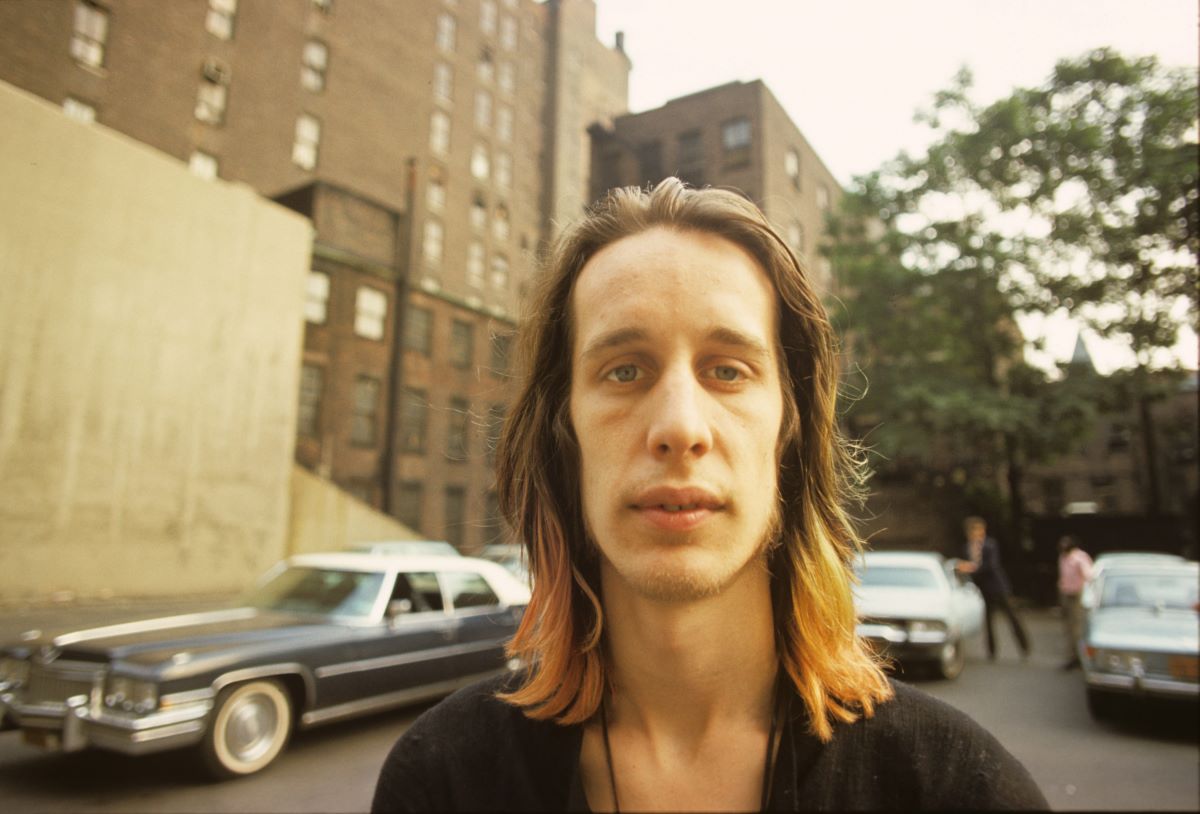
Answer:
<svg viewBox="0 0 1200 814"><path fill-rule="evenodd" d="M383 585L378 571L288 568L250 595L264 610L320 616L366 616Z"/></svg>

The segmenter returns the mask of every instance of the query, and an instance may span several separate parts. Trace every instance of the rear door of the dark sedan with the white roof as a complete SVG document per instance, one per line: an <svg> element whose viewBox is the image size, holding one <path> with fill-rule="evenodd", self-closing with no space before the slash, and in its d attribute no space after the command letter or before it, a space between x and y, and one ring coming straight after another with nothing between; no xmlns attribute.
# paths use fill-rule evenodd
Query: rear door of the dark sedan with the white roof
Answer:
<svg viewBox="0 0 1200 814"><path fill-rule="evenodd" d="M512 610L500 603L478 571L446 570L439 577L457 624L457 648L450 668L454 675L476 676L503 668L504 645L516 630Z"/></svg>

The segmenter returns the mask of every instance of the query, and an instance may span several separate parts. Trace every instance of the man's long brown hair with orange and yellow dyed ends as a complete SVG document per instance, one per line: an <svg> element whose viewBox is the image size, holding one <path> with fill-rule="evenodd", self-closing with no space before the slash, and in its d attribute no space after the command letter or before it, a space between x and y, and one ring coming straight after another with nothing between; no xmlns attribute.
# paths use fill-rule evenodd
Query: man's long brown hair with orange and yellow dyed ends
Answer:
<svg viewBox="0 0 1200 814"><path fill-rule="evenodd" d="M725 190L670 178L652 191L613 190L556 243L518 343L524 381L497 448L500 509L524 541L533 598L509 644L529 670L500 694L535 719L577 724L606 686L596 556L580 497L580 451L569 415L571 293L602 247L665 226L730 240L762 265L780 312L784 420L779 437L780 541L768 557L780 663L822 740L833 720L871 716L892 690L857 638L851 562L862 550L846 504L860 465L835 420L836 337L808 275L763 214Z"/></svg>

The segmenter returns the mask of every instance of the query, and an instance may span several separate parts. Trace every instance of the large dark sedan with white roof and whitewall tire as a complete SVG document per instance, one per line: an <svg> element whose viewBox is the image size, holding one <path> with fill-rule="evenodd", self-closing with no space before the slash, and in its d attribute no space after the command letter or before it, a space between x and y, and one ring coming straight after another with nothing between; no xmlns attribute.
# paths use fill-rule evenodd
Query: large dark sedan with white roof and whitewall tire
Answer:
<svg viewBox="0 0 1200 814"><path fill-rule="evenodd" d="M445 695L509 669L529 589L467 557L320 553L238 606L26 634L0 657L0 729L64 752L198 747L252 774L307 728Z"/></svg>

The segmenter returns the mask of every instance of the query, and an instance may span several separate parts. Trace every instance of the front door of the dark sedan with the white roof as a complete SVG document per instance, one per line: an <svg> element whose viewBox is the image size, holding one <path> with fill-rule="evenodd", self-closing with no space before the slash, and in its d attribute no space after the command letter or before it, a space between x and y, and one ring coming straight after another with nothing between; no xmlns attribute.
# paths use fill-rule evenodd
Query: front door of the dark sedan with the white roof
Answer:
<svg viewBox="0 0 1200 814"><path fill-rule="evenodd" d="M352 633L349 658L317 671L318 706L415 693L451 678L457 621L445 606L437 575L395 575L382 621Z"/></svg>

